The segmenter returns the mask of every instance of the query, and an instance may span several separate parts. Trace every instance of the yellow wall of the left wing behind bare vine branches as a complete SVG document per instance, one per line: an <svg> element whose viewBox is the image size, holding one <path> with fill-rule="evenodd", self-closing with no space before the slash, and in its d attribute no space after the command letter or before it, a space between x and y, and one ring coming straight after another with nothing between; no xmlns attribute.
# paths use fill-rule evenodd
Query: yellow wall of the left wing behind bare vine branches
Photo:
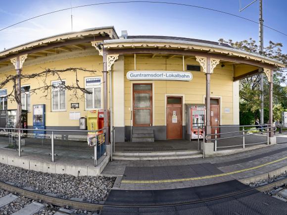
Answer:
<svg viewBox="0 0 287 215"><path fill-rule="evenodd" d="M91 72L84 72L78 70L78 80L79 85L84 87L85 86L85 77L94 77L99 76L102 78L102 57L99 55L92 55L92 56L83 56L83 57L75 57L70 59L63 59L63 60L56 60L53 62L41 63L37 65L25 66L23 65L22 74L32 74L32 73L39 73L44 71L45 69L66 69L69 67L77 67L77 68L85 68L88 70L96 70L95 73ZM5 79L6 75L15 74L15 70L1 72L0 73L0 80ZM61 79L66 80L66 84L71 86L76 84L76 76L74 72L64 72L61 73ZM109 79L109 77L108 77ZM46 82L48 85L51 84L51 81L58 80L57 76L48 76ZM38 88L39 86L43 86L44 79L29 79L29 80L22 80L22 85L30 85L31 89ZM109 84L109 83L108 83ZM102 84L101 84L102 85ZM108 86L109 87L109 86ZM12 90L12 83L9 83L7 86L8 93ZM108 88L109 89L109 88ZM102 88L103 92L103 88ZM70 120L69 119L69 112L80 112L81 117L85 117L88 115L88 111L85 110L85 99L83 97L83 93L78 90L78 95L81 98L77 99L73 96L73 92L70 90L66 90L66 110L65 111L52 111L51 110L51 91L48 91L48 95L45 96L47 92L43 92L38 90L36 93L31 94L31 112L28 113L28 126L33 126L33 105L34 104L46 104L46 126L79 126L78 120ZM101 96L102 104L103 104L103 94ZM109 100L108 100L109 101ZM70 103L79 103L80 108L71 109ZM11 101L8 99L7 102L7 109L16 109L17 104L15 101ZM103 108L103 107L102 107Z"/></svg>

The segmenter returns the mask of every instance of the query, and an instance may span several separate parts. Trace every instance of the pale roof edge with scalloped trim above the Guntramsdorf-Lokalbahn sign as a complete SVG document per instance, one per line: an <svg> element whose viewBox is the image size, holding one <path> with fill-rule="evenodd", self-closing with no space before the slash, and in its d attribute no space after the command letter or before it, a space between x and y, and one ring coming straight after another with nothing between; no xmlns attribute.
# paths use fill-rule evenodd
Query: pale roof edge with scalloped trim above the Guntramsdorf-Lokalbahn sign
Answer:
<svg viewBox="0 0 287 215"><path fill-rule="evenodd" d="M274 60L259 54L242 51L235 48L214 45L208 43L198 43L181 40L162 40L162 39L116 39L105 40L103 46L106 49L119 48L159 48L159 49L182 49L208 52L212 54L227 55L238 58L244 58L250 61L257 61L263 64L269 64L275 67L285 67L281 61ZM160 50L159 50L160 52Z"/></svg>

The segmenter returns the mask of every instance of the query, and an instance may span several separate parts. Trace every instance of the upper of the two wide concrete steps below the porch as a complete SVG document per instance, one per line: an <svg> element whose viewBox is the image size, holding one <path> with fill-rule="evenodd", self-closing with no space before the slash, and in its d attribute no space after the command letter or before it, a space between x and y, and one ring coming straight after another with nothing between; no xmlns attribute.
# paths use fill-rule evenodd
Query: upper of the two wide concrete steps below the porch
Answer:
<svg viewBox="0 0 287 215"><path fill-rule="evenodd" d="M114 156L173 156L173 155L194 155L200 154L200 151L195 150L185 150L185 151L157 151L157 152L114 152Z"/></svg>

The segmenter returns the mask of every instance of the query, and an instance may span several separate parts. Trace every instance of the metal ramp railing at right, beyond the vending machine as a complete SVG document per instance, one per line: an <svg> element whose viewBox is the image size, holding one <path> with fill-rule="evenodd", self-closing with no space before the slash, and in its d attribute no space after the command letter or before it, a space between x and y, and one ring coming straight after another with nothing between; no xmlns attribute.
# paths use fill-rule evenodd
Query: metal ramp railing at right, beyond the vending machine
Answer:
<svg viewBox="0 0 287 215"><path fill-rule="evenodd" d="M244 127L245 128L246 127L254 128L254 127L257 127L257 126L251 125L251 126L216 126L216 127L211 127L211 128L215 129L215 133L214 134L207 134L204 139L206 141L214 141L214 151L217 151L218 148L230 148L230 147L238 147L238 146L242 146L242 148L245 148L246 145L255 145L255 144L262 144L262 143L267 143L267 145L269 145L269 133L276 131L276 129L277 129L276 126L266 125L266 124L265 125L258 125L258 126L265 126L265 127L258 128L258 129L247 129L247 130L244 130ZM217 133L217 130L221 129L221 128L242 128L242 130L231 131L231 132L224 132L224 133ZM262 131L262 129L265 129L265 131ZM259 130L259 133L267 133L267 141L245 144L245 136L251 136L251 135L256 134L256 133L245 134L245 132L248 132L248 131L251 131L251 130ZM217 137L219 135L233 134L233 133L240 133L240 132L242 132L241 135L229 136L229 137L220 137L220 138ZM214 136L215 138L211 138L212 136ZM218 140L231 139L231 138L236 138L236 137L242 137L242 144L240 144L240 145L232 145L232 146L217 146L217 141Z"/></svg>

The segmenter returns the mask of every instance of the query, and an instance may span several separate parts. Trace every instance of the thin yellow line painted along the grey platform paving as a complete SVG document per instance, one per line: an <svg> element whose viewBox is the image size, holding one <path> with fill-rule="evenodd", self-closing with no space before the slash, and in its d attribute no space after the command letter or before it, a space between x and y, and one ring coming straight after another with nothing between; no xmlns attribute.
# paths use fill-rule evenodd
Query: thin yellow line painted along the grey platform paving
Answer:
<svg viewBox="0 0 287 215"><path fill-rule="evenodd" d="M255 170L261 167L268 166L270 164L274 164L283 160L286 160L287 157L271 161L256 167L250 167L246 168L243 170L238 170L234 172L225 172L225 173L220 173L220 174L213 174L213 175L206 175L206 176L200 176L200 177L190 177L190 178L178 178L178 179L162 179L162 180L122 180L122 183L137 183L137 184L146 184L146 183L167 183L167 182L180 182L180 181L191 181L191 180L201 180L201 179L207 179L207 178L214 178L214 177L221 177L221 176L226 176L226 175L231 175L231 174L236 174L239 172L246 172L250 170Z"/></svg>

